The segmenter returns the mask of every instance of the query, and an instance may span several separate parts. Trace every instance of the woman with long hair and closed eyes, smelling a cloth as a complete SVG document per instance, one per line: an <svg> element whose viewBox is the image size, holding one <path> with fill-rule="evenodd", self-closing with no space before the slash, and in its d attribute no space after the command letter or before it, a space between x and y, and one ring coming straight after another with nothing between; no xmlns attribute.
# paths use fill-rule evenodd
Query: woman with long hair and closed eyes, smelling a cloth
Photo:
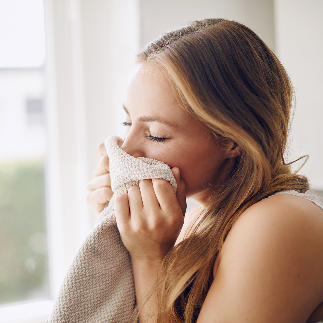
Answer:
<svg viewBox="0 0 323 323"><path fill-rule="evenodd" d="M139 53L121 148L179 184L144 180L115 199L140 322L323 319L323 210L284 161L292 100L275 54L234 21L194 21ZM112 195L102 148L97 213ZM200 207L185 215L185 197Z"/></svg>

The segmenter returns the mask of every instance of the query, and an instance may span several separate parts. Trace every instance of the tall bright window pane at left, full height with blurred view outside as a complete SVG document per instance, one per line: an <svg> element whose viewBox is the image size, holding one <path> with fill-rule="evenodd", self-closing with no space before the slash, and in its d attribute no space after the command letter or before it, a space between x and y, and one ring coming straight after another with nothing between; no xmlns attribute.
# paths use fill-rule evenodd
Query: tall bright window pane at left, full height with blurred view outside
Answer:
<svg viewBox="0 0 323 323"><path fill-rule="evenodd" d="M0 0L0 304L48 298L42 0Z"/></svg>

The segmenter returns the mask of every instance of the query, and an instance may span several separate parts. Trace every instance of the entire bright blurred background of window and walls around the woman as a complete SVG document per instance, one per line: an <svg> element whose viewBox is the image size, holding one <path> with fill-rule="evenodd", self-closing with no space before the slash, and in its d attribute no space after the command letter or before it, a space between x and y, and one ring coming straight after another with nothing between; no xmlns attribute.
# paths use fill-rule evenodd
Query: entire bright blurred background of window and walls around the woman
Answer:
<svg viewBox="0 0 323 323"><path fill-rule="evenodd" d="M123 135L135 55L186 21L237 20L276 52L297 96L287 160L308 154L322 194L322 14L321 0L0 0L0 322L47 317L94 224L86 184L97 145Z"/></svg>

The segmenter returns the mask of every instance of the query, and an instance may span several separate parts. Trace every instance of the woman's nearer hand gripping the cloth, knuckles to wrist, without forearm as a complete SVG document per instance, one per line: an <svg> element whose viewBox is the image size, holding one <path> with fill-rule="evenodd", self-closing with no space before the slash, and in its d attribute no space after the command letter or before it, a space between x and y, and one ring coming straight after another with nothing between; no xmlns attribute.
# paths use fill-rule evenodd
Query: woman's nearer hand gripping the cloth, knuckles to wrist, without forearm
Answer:
<svg viewBox="0 0 323 323"><path fill-rule="evenodd" d="M118 229L132 260L161 262L175 244L183 225L186 200L179 169L174 167L172 172L178 186L176 194L166 180L148 179L115 198Z"/></svg>

